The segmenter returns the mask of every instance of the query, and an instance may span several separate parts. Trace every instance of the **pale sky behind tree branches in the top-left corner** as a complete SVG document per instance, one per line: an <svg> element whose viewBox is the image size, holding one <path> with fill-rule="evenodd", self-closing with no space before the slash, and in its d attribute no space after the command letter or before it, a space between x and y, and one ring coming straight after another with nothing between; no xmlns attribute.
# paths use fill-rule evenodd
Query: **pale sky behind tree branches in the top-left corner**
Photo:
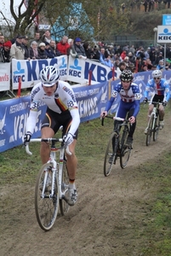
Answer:
<svg viewBox="0 0 171 256"><path fill-rule="evenodd" d="M7 19L11 20L12 16L10 14L9 3L10 3L10 0L0 0L0 10L3 12L3 15ZM20 3L21 3L21 0L14 0L14 10L17 9ZM25 10L24 5L23 5L23 10ZM2 19L2 15L0 15L0 21L1 19Z"/></svg>

